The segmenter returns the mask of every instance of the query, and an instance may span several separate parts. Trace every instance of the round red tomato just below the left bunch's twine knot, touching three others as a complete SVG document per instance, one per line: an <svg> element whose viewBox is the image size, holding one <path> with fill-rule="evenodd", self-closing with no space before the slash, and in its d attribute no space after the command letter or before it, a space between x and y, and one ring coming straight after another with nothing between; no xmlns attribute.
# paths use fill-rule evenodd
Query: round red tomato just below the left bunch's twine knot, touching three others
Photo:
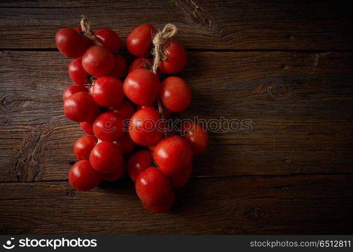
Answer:
<svg viewBox="0 0 353 252"><path fill-rule="evenodd" d="M94 77L109 76L115 66L113 53L104 46L93 45L82 56L83 69Z"/></svg>

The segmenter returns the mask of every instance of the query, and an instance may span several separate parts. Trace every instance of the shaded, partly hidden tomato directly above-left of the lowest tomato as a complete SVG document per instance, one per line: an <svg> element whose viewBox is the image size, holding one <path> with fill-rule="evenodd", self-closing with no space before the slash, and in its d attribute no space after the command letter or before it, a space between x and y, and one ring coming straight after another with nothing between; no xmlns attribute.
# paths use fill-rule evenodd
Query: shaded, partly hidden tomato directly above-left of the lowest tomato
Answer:
<svg viewBox="0 0 353 252"><path fill-rule="evenodd" d="M131 177L132 181L136 181L138 174L141 171L144 171L148 167L152 166L153 164L153 157L152 153L149 151L143 150L136 152L132 155L127 162L127 171L129 176Z"/></svg>

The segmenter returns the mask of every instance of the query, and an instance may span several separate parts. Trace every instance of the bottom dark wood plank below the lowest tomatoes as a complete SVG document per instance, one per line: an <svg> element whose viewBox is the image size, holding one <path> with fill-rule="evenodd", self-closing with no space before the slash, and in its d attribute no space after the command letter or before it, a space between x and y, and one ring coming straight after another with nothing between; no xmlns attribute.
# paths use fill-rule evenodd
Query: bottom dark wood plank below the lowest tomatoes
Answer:
<svg viewBox="0 0 353 252"><path fill-rule="evenodd" d="M348 234L352 175L192 179L172 210L144 210L131 181L0 183L1 234Z"/></svg>

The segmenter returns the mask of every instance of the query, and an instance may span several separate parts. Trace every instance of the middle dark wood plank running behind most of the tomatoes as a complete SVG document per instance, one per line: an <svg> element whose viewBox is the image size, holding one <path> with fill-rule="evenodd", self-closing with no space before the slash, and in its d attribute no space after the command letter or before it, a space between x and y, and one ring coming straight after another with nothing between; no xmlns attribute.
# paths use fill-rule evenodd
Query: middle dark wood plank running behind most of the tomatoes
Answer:
<svg viewBox="0 0 353 252"><path fill-rule="evenodd" d="M59 52L0 54L0 180L66 179L83 136L65 118L72 84ZM176 118L251 119L251 132L210 132L195 176L346 173L352 167L353 53L190 52L193 92Z"/></svg>

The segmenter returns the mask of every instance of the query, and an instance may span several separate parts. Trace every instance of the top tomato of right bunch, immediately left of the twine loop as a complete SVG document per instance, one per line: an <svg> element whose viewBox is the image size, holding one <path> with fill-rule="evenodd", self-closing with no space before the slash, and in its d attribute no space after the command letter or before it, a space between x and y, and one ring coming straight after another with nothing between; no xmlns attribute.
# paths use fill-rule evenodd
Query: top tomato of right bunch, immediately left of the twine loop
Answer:
<svg viewBox="0 0 353 252"><path fill-rule="evenodd" d="M126 47L132 55L136 57L148 57L152 39L157 30L152 25L137 26L126 39Z"/></svg>

